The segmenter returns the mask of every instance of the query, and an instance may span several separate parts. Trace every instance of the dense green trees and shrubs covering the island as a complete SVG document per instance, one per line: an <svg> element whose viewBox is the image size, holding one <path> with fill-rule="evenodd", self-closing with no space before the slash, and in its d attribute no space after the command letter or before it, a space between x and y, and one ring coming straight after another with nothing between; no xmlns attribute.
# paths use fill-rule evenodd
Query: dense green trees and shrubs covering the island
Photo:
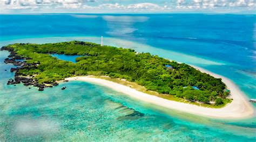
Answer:
<svg viewBox="0 0 256 142"><path fill-rule="evenodd" d="M132 49L79 41L12 44L8 48L14 49L22 57L29 57L27 63L39 64L37 67L28 66L18 70L19 75L35 76L39 83L55 82L72 76L109 76L124 78L145 86L147 90L191 101L209 103L216 100L217 105L221 105L227 97L225 84L220 78L150 53L136 53ZM72 63L52 57L49 53L84 56L76 58L77 63ZM173 69L166 69L165 65L168 64ZM200 90L194 90L191 86L197 86Z"/></svg>

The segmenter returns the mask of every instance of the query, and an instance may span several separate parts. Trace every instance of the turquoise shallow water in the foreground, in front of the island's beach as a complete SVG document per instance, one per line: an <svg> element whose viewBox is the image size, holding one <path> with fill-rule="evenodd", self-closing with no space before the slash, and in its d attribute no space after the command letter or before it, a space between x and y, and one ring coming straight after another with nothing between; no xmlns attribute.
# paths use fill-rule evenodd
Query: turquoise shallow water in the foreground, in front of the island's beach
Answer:
<svg viewBox="0 0 256 142"><path fill-rule="evenodd" d="M85 82L38 92L6 85L12 65L0 52L0 140L255 141L254 119L213 120L166 110ZM66 86L66 90L61 87Z"/></svg>

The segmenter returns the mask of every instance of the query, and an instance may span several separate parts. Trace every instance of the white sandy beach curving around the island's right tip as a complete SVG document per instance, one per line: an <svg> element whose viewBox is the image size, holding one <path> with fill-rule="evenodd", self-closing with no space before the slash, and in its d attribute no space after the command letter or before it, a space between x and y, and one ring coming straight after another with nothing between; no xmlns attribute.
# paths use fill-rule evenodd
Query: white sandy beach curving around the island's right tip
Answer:
<svg viewBox="0 0 256 142"><path fill-rule="evenodd" d="M146 94L135 89L132 89L128 86L121 85L118 83L111 82L105 79L93 78L90 76L85 77L71 77L66 78L66 80L82 80L84 82L89 82L92 84L103 85L109 87L115 91L122 92L128 96L147 102L155 105L163 106L169 109L174 109L178 111L183 111L187 113L197 114L200 116L210 117L210 118L231 118L231 119L240 119L240 118L250 118L255 116L254 108L248 102L245 94L235 85L230 79L201 69L200 67L193 66L194 68L210 74L215 78L222 78L223 82L227 85L227 88L231 91L231 98L233 99L232 103L227 104L221 109L213 109L207 107L201 107L192 104L180 103L172 100L167 100L150 94Z"/></svg>

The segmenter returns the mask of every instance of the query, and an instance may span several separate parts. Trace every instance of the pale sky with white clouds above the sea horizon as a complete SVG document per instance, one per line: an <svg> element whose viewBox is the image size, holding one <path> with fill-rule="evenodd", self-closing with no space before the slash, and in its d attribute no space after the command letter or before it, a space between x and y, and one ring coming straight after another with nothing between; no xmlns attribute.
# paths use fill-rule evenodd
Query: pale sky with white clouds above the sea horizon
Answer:
<svg viewBox="0 0 256 142"><path fill-rule="evenodd" d="M0 0L1 13L256 13L256 0Z"/></svg>

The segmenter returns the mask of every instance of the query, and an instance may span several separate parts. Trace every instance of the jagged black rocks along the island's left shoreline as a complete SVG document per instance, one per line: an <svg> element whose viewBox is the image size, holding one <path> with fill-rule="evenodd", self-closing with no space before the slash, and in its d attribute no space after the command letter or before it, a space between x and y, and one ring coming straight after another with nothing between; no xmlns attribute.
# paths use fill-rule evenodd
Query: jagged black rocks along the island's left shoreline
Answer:
<svg viewBox="0 0 256 142"><path fill-rule="evenodd" d="M7 50L10 52L10 55L8 58L4 59L5 64L13 64L17 67L12 67L10 69L10 72L15 72L14 79L10 78L7 82L7 85L15 85L15 84L20 84L23 83L24 86L35 86L38 87L38 91L44 91L45 87L52 87L52 86L57 86L59 85L57 82L49 82L49 83L43 83L40 84L38 83L38 80L35 79L35 76L31 77L23 77L21 73L19 73L19 70L22 69L31 69L35 68L37 69L37 66L40 64L38 63L26 63L26 60L29 60L30 58L26 57L21 57L19 56L14 49L9 48L7 46L3 46L0 50ZM30 89L30 87L29 87ZM64 89L63 89L64 90Z"/></svg>

